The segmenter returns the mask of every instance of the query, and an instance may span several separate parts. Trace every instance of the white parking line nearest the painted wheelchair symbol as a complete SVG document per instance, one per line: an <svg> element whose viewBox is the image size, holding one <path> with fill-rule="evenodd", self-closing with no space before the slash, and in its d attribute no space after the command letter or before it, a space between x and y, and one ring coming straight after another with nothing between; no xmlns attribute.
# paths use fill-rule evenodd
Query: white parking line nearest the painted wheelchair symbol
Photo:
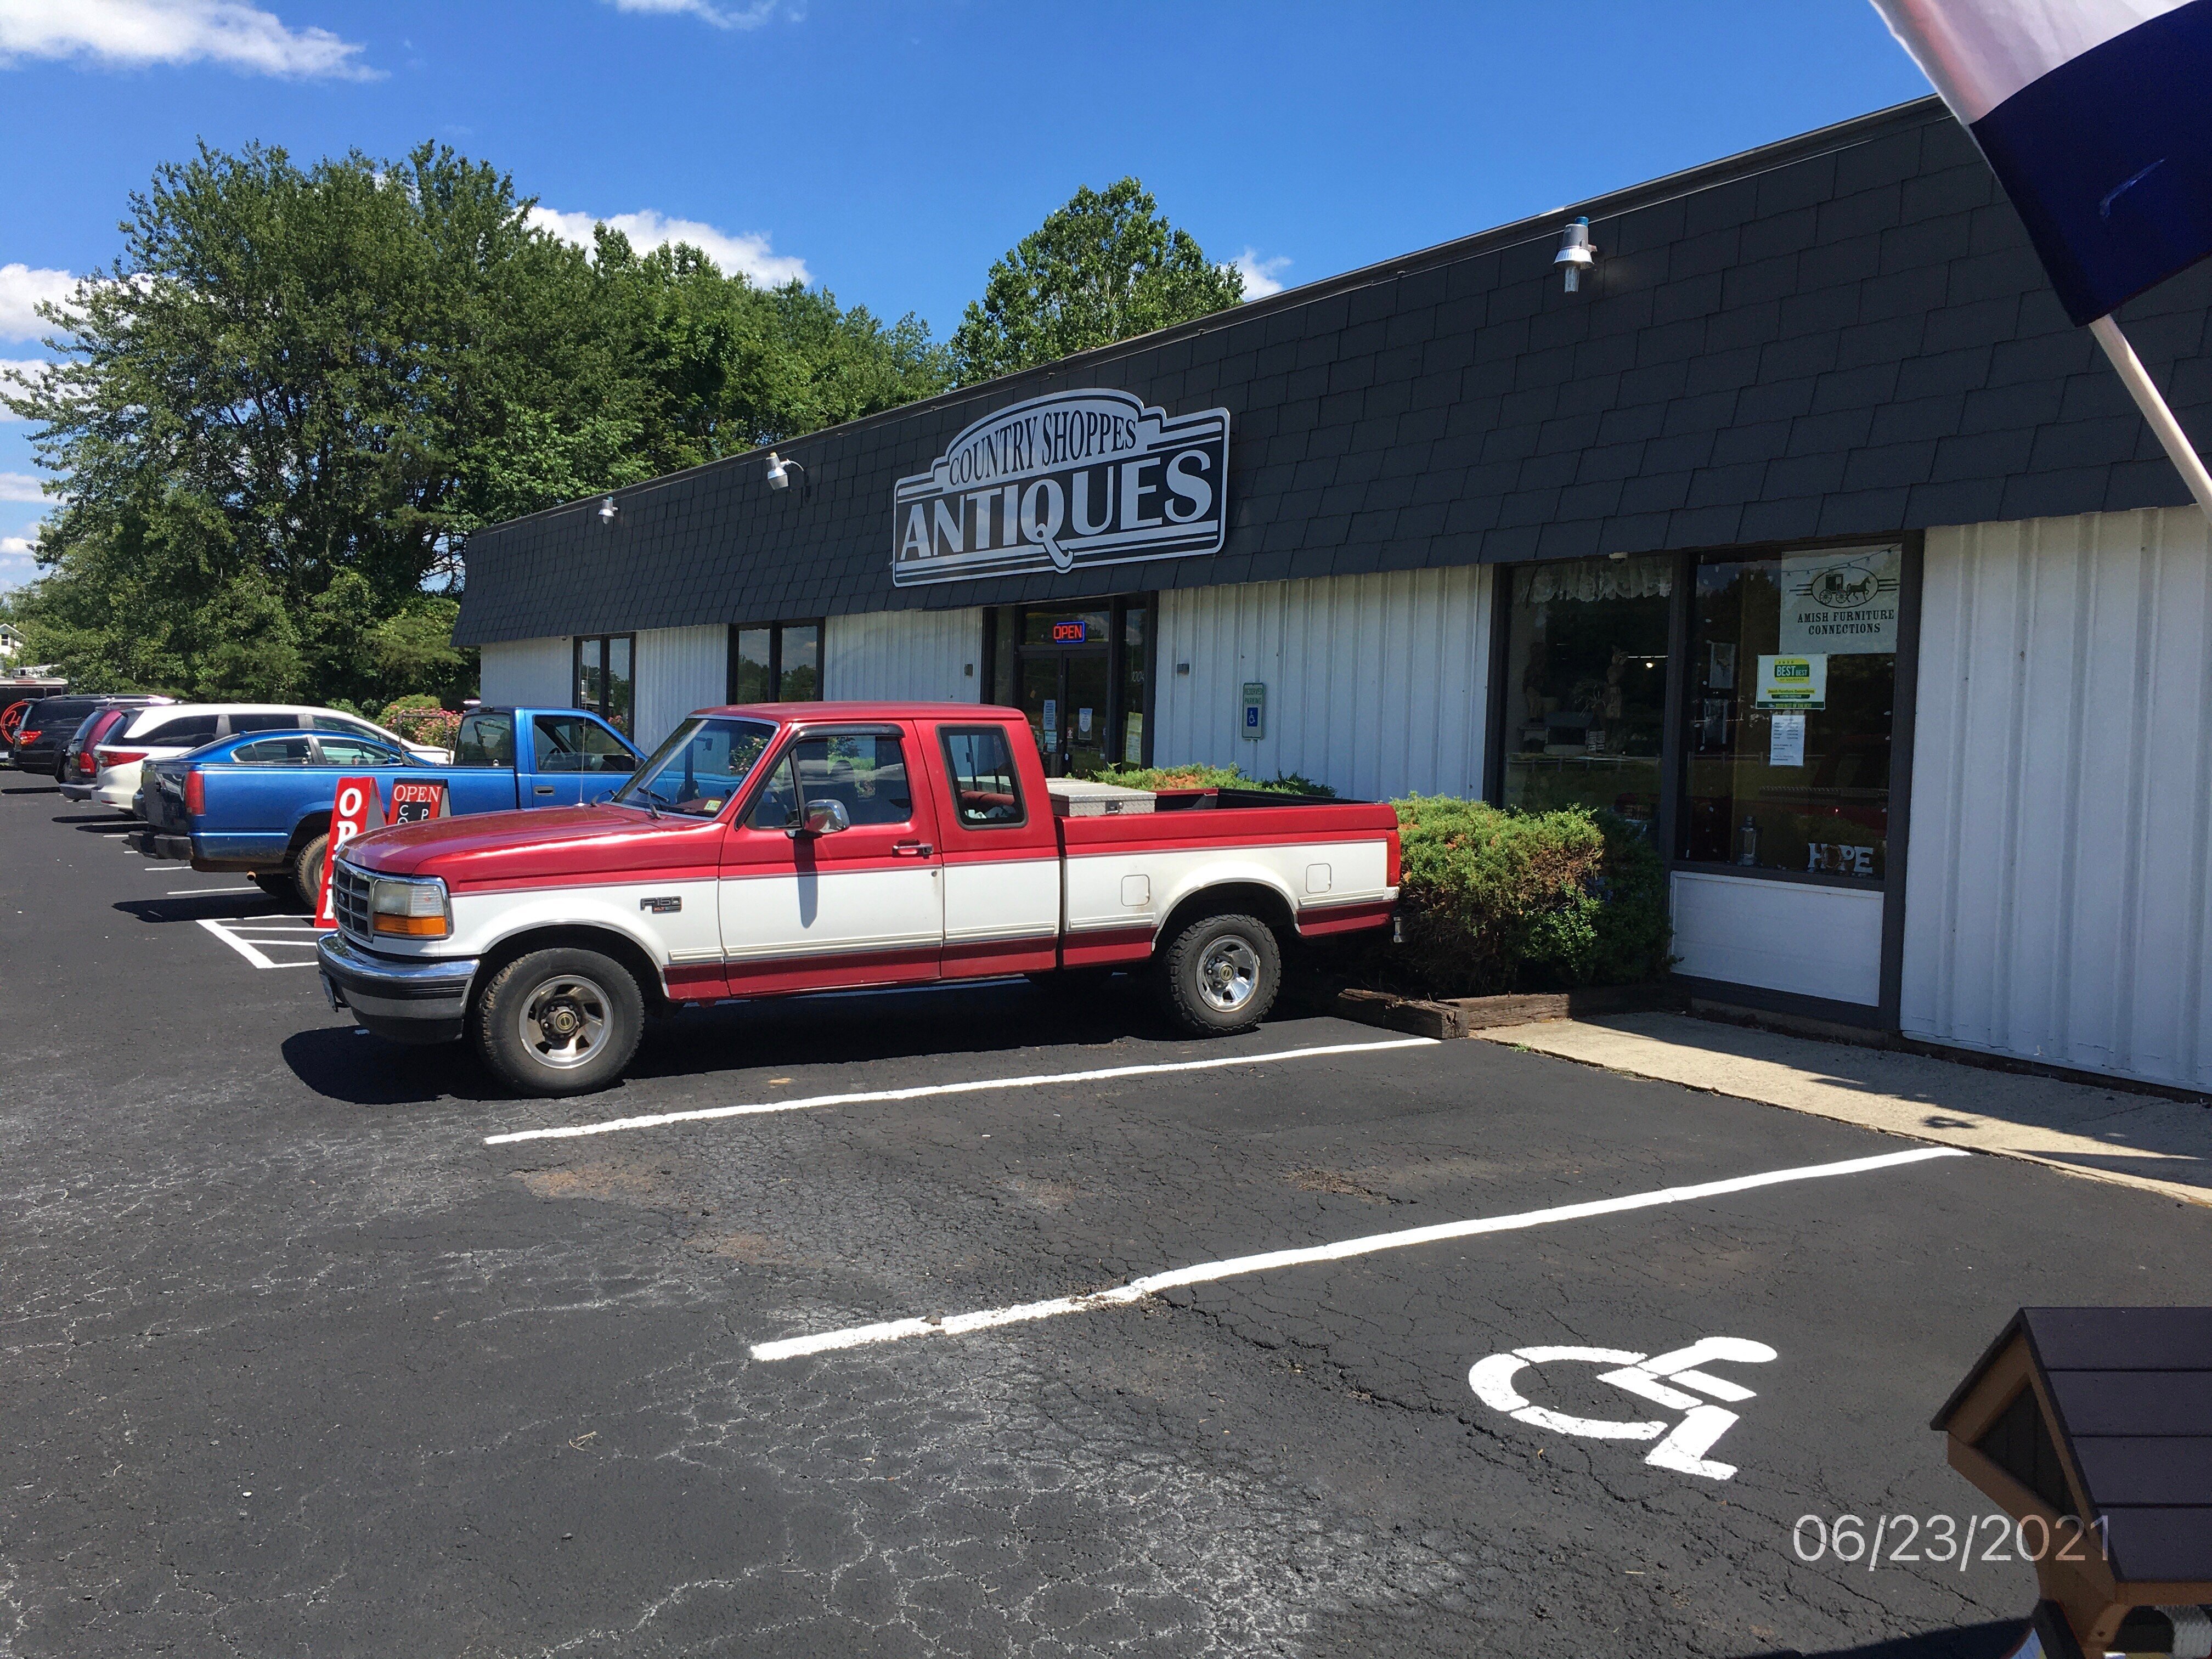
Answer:
<svg viewBox="0 0 2212 1659"><path fill-rule="evenodd" d="M1000 1325L1022 1325L1035 1318L1060 1314L1088 1314L1097 1307L1128 1307L1146 1296L1181 1285L1210 1285L1217 1279L1239 1279L1243 1274L1276 1272L1279 1267L1305 1267L1316 1261L1345 1261L1347 1256L1371 1256L1378 1250L1407 1250L1411 1245L1442 1243L1447 1239L1475 1239L1484 1232L1520 1232L1522 1228L1544 1228L1553 1221L1584 1221L1597 1214L1619 1214L1621 1210L1650 1210L1661 1203L1694 1203L1717 1199L1725 1192L1750 1192L1761 1186L1783 1186L1785 1181L1818 1181L1829 1175L1865 1175L1867 1170L1891 1170L1902 1164L1927 1164L1936 1157L1971 1157L1958 1146L1922 1146L1911 1152L1882 1152L1878 1157L1854 1157L1840 1164L1803 1164L1792 1170L1765 1170L1763 1175L1736 1175L1728 1181L1701 1181L1697 1186L1668 1186L1657 1192L1630 1192L1619 1199L1593 1199L1590 1203L1559 1203L1551 1210L1522 1210L1520 1214L1480 1217L1475 1221L1442 1221L1433 1228L1407 1228L1405 1232L1371 1232L1365 1239L1345 1239L1332 1245L1307 1250L1267 1250L1259 1256L1230 1256L1228 1261L1201 1261L1194 1267L1175 1267L1164 1274L1130 1279L1113 1290L1088 1296L1053 1296L1042 1303L1018 1303L1013 1307L984 1307L975 1314L951 1314L940 1321L891 1318L880 1325L847 1325L841 1332L816 1336L787 1336L781 1343L754 1343L757 1360L794 1360L805 1354L827 1354L841 1347L867 1347L872 1343L896 1343L907 1336L967 1336Z"/></svg>

